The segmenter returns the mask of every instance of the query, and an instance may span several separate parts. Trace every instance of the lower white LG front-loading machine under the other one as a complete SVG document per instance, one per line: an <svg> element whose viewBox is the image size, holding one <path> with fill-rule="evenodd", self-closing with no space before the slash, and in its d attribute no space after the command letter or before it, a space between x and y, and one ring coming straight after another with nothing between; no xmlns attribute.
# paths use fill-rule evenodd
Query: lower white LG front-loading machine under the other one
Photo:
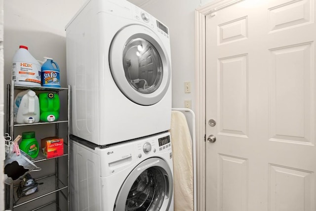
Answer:
<svg viewBox="0 0 316 211"><path fill-rule="evenodd" d="M173 211L169 132L106 148L75 137L70 158L71 210Z"/></svg>

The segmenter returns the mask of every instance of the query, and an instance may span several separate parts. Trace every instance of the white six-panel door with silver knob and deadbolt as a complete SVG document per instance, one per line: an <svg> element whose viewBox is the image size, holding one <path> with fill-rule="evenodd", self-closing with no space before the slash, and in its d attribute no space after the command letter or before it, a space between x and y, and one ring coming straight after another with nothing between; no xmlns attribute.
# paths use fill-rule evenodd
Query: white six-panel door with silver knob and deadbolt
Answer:
<svg viewBox="0 0 316 211"><path fill-rule="evenodd" d="M316 211L315 9L243 0L206 16L206 211Z"/></svg>

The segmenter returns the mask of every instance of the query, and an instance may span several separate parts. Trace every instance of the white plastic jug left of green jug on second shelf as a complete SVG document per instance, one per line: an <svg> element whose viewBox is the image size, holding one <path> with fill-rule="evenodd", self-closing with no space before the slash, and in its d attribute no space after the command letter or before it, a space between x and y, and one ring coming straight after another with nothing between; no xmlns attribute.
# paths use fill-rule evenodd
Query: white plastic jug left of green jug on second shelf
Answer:
<svg viewBox="0 0 316 211"><path fill-rule="evenodd" d="M39 97L31 89L21 91L15 97L13 121L18 124L40 122Z"/></svg>

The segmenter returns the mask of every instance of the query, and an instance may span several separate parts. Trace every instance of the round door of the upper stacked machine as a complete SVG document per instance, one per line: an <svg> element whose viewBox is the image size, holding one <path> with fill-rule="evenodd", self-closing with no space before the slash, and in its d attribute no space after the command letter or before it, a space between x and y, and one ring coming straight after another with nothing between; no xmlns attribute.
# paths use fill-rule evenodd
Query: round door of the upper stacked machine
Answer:
<svg viewBox="0 0 316 211"><path fill-rule="evenodd" d="M142 25L122 28L109 53L112 76L120 91L140 105L158 103L170 83L170 61L158 36Z"/></svg>

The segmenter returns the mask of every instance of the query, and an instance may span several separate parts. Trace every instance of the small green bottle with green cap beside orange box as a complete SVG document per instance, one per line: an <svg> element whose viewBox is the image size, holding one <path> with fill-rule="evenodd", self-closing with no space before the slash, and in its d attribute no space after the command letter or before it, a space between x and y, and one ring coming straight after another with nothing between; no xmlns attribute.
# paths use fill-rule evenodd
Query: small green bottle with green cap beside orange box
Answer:
<svg viewBox="0 0 316 211"><path fill-rule="evenodd" d="M40 147L39 142L35 138L35 132L22 132L22 141L19 148L28 154L31 158L37 158L39 155Z"/></svg>

